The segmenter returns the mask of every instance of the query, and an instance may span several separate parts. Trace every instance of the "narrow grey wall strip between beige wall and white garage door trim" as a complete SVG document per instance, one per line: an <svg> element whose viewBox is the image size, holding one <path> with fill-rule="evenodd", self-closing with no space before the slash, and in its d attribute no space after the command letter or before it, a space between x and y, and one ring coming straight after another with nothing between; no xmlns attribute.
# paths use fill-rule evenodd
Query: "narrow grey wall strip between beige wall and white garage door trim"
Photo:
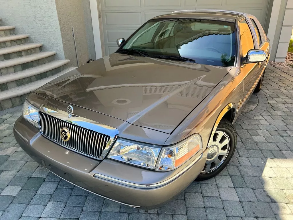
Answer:
<svg viewBox="0 0 293 220"><path fill-rule="evenodd" d="M95 42L93 39L93 24L91 20L91 8L89 0L82 0L84 6L84 24L86 27L86 41L88 42L88 57L96 60Z"/></svg>

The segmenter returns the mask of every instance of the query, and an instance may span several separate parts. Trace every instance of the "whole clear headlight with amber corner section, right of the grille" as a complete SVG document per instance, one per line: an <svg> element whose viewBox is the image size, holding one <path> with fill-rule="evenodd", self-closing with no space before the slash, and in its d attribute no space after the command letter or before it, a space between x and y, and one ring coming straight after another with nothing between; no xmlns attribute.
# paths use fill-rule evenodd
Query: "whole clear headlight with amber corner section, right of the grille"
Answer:
<svg viewBox="0 0 293 220"><path fill-rule="evenodd" d="M156 167L156 170L159 171L167 171L176 169L201 149L202 140L199 134L192 135L178 144L162 149L118 138L108 158L150 169ZM157 161L159 163L156 166Z"/></svg>

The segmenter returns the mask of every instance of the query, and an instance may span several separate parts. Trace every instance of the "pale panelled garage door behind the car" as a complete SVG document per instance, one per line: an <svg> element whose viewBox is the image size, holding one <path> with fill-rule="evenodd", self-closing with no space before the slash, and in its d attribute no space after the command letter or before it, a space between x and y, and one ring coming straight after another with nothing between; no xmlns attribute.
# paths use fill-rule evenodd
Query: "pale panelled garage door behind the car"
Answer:
<svg viewBox="0 0 293 220"><path fill-rule="evenodd" d="M105 55L117 50L116 39L128 38L149 19L176 10L221 9L253 14L265 25L268 0L99 0Z"/></svg>

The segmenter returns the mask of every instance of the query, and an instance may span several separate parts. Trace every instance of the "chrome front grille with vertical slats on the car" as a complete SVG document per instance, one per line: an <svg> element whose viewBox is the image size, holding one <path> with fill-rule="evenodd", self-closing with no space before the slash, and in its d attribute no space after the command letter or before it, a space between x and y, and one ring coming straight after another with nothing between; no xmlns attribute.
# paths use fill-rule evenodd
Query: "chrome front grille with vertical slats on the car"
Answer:
<svg viewBox="0 0 293 220"><path fill-rule="evenodd" d="M67 109L62 104L61 109ZM79 107L74 107L78 109ZM82 155L102 160L108 154L117 139L119 130L111 126L74 114L67 118L68 112L48 105L40 107L38 120L40 132L53 142ZM75 109L74 109L75 110ZM83 109L85 112L90 110ZM61 138L62 128L67 128L70 134L68 141ZM65 137L66 138L66 137Z"/></svg>

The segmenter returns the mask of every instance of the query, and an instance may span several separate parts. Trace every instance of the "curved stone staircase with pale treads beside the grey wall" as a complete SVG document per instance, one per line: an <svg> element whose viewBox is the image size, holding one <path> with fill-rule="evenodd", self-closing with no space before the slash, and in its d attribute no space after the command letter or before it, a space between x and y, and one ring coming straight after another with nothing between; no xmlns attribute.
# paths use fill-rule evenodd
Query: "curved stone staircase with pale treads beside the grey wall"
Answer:
<svg viewBox="0 0 293 220"><path fill-rule="evenodd" d="M73 70L69 60L55 60L42 43L28 43L27 34L15 34L0 18L0 111L23 104L31 92Z"/></svg>

